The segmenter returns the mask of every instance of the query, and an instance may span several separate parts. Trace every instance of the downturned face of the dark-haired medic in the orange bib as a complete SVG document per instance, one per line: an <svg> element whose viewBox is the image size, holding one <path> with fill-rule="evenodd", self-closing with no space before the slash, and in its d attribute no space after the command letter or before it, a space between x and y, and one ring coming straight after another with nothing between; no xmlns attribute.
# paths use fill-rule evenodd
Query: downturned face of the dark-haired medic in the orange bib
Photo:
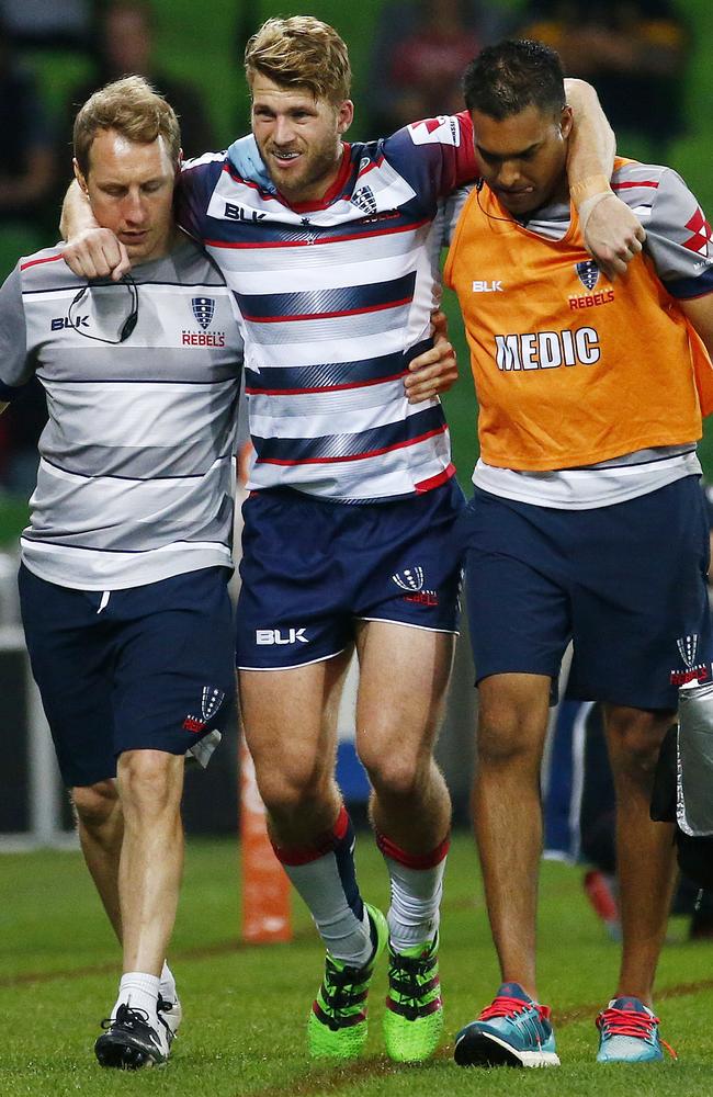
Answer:
<svg viewBox="0 0 713 1097"><path fill-rule="evenodd" d="M568 106L557 116L527 106L502 122L472 112L475 151L488 186L516 217L567 193Z"/></svg>

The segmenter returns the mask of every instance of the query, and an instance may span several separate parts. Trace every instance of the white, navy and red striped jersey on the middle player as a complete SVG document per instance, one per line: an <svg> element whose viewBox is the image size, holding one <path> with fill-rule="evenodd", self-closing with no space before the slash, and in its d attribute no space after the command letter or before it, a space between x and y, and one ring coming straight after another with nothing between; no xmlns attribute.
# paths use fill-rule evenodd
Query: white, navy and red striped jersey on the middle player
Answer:
<svg viewBox="0 0 713 1097"><path fill-rule="evenodd" d="M346 145L319 203L288 206L252 137L184 166L179 223L242 315L250 488L364 502L453 474L440 402L410 406L404 376L431 346L439 200L475 174L466 114Z"/></svg>

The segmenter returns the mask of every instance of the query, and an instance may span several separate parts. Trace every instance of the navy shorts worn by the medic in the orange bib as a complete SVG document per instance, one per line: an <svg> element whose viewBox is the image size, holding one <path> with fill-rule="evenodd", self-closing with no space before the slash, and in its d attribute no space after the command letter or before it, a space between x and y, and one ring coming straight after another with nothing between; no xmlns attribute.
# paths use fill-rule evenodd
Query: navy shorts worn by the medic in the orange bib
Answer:
<svg viewBox="0 0 713 1097"><path fill-rule="evenodd" d="M556 510L475 490L459 523L476 681L556 680L567 695L676 709L711 675L709 528L698 477L627 502Z"/></svg>

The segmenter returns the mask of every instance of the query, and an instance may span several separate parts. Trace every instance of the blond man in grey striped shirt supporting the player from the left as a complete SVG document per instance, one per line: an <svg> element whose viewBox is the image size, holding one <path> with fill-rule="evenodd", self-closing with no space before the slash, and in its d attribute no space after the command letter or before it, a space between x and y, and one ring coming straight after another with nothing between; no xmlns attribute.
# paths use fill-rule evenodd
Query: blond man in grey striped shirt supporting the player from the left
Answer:
<svg viewBox="0 0 713 1097"><path fill-rule="evenodd" d="M184 756L234 690L242 340L215 264L174 228L168 103L139 77L109 84L79 112L75 151L132 275L88 283L57 248L22 259L0 290L0 399L33 374L47 394L22 614L84 858L124 950L97 1056L132 1068L163 1062L180 1020L165 957Z"/></svg>

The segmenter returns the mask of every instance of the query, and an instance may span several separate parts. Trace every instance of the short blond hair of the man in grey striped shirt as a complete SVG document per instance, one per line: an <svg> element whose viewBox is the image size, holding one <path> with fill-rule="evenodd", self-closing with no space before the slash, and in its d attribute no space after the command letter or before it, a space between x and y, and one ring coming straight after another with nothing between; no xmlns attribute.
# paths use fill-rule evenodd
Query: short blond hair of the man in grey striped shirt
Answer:
<svg viewBox="0 0 713 1097"><path fill-rule="evenodd" d="M150 145L162 137L172 163L181 151L181 129L173 108L143 76L127 76L95 91L75 118L75 157L89 174L89 152L100 131L115 129L127 140Z"/></svg>

